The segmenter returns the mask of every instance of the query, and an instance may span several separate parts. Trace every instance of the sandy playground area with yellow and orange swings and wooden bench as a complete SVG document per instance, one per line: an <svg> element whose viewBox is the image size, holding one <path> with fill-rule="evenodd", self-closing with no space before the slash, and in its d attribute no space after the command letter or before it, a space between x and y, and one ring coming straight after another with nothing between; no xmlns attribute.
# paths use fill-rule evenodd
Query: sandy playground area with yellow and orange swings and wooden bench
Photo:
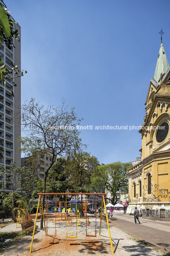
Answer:
<svg viewBox="0 0 170 256"><path fill-rule="evenodd" d="M95 207L94 214L87 213L87 197L86 201L83 202L83 207L80 207L80 205L78 207L76 197L75 208L71 209L70 202L67 201L67 196L70 194L77 196L77 193L65 193L67 196L66 201L63 202L64 207L61 207L59 202L60 207L58 208L57 196L59 193L50 194L54 195L56 198L55 209L58 209L58 213L56 210L55 213L49 213L47 198L49 194L47 193L45 194L46 207L43 209L41 198L43 194L40 193L37 212L34 214L34 222L31 220L30 216L28 216L27 220L24 220L24 211L22 211L23 209L20 207L18 210L20 211L18 212L18 223L7 225L0 230L0 232L22 230L27 233L27 235L21 238L20 241L17 241L16 244L4 248L3 256L89 256L90 254L96 256L111 256L113 254L130 256L134 248L140 250L139 255L160 256L160 252L158 253L153 249L145 248L144 245L134 241L130 235L116 229L114 225L110 225L111 222L108 219L108 215L105 214L107 213L104 199L105 194L100 194L102 196L101 209L103 209L101 214L97 214L97 207ZM86 195L89 194L87 193ZM99 194L95 194L96 197L98 195ZM97 203L95 205L97 205ZM84 216L80 214L82 210ZM43 229L40 229L40 218L43 220Z"/></svg>

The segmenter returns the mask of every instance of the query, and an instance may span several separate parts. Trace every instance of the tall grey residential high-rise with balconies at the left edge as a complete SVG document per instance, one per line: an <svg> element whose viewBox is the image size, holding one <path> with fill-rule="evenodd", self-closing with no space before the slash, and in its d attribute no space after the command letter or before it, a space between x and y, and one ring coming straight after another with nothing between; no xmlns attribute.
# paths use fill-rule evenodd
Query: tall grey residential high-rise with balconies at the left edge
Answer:
<svg viewBox="0 0 170 256"><path fill-rule="evenodd" d="M20 26L14 25L20 34ZM9 49L5 43L0 43L0 58L6 69L12 71L10 76L15 76L12 63L18 65L20 70L20 42L13 39L14 47ZM16 87L12 82L17 84ZM10 163L15 163L20 167L20 78L7 78L5 86L0 83L0 146L4 148L3 157L0 157L0 165L10 168ZM14 97L12 96L12 91ZM10 192L10 184L5 184L5 191ZM2 184L0 185L2 187Z"/></svg>

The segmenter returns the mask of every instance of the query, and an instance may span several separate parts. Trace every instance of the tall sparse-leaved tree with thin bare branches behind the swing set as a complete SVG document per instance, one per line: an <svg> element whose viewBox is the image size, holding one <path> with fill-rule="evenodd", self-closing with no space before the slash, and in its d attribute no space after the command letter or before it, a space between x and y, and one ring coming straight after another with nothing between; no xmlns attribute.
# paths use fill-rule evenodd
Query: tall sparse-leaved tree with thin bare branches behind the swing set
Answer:
<svg viewBox="0 0 170 256"><path fill-rule="evenodd" d="M64 102L61 107L45 108L32 98L30 102L22 105L21 110L21 124L26 134L26 137L21 138L21 150L28 156L32 156L32 163L38 162L40 155L45 153L51 155L50 165L44 175L43 192L45 193L48 173L57 156L70 155L82 147L80 132L76 129L81 119L77 117L74 108L68 111ZM43 196L43 206L44 202L45 196ZM41 227L42 225L41 218Z"/></svg>

